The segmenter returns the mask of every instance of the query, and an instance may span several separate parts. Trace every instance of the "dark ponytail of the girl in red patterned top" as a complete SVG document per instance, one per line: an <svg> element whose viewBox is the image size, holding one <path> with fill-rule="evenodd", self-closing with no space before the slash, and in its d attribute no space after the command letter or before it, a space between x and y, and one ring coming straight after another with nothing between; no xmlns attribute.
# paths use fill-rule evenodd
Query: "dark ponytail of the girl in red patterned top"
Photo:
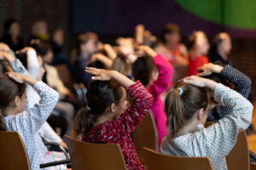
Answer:
<svg viewBox="0 0 256 170"><path fill-rule="evenodd" d="M80 109L75 118L74 129L77 134L85 135L90 131L96 122L96 115L87 107Z"/></svg>

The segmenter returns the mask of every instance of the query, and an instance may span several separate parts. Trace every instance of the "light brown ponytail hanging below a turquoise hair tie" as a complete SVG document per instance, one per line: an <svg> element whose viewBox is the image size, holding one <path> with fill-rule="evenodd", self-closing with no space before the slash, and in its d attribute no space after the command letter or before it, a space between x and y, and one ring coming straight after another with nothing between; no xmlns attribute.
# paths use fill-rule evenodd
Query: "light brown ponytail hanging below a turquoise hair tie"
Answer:
<svg viewBox="0 0 256 170"><path fill-rule="evenodd" d="M173 137L177 134L177 131L183 127L184 123L184 107L177 88L174 88L167 94L165 105L167 116L166 125L169 127L171 137Z"/></svg>

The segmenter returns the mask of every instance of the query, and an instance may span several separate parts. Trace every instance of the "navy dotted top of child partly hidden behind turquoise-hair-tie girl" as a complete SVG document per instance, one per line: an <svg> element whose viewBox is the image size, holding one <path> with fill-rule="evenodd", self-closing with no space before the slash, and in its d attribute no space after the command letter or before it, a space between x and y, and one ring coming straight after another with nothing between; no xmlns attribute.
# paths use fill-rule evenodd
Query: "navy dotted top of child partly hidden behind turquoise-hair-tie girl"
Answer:
<svg viewBox="0 0 256 170"><path fill-rule="evenodd" d="M228 81L234 83L236 92L247 98L251 89L251 79L249 77L244 75L241 71L237 71L230 65L226 65L223 71L221 71L219 74ZM207 121L218 122L219 119L223 118L229 113L229 107L226 107L224 105L218 105L209 112Z"/></svg>

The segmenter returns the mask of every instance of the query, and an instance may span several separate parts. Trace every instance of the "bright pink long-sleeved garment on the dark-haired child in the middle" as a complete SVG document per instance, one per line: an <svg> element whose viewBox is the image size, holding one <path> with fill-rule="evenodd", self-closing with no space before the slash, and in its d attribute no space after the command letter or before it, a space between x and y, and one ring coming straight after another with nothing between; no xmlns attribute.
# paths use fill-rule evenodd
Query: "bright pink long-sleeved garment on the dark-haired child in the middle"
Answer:
<svg viewBox="0 0 256 170"><path fill-rule="evenodd" d="M167 134L165 106L161 99L161 94L166 92L172 82L173 68L161 54L157 54L153 60L154 65L156 65L159 71L159 76L158 79L150 85L148 92L152 94L154 98L150 110L154 116L154 122L157 127L158 144L160 147L162 138Z"/></svg>

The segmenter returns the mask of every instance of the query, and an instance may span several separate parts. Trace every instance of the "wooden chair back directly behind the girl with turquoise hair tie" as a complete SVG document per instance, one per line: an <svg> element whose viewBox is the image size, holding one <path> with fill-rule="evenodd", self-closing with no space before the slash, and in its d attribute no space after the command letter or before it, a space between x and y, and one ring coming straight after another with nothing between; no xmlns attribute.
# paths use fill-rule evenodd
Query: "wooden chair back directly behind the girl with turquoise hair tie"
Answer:
<svg viewBox="0 0 256 170"><path fill-rule="evenodd" d="M148 170L212 170L208 157L167 156L144 147Z"/></svg>

